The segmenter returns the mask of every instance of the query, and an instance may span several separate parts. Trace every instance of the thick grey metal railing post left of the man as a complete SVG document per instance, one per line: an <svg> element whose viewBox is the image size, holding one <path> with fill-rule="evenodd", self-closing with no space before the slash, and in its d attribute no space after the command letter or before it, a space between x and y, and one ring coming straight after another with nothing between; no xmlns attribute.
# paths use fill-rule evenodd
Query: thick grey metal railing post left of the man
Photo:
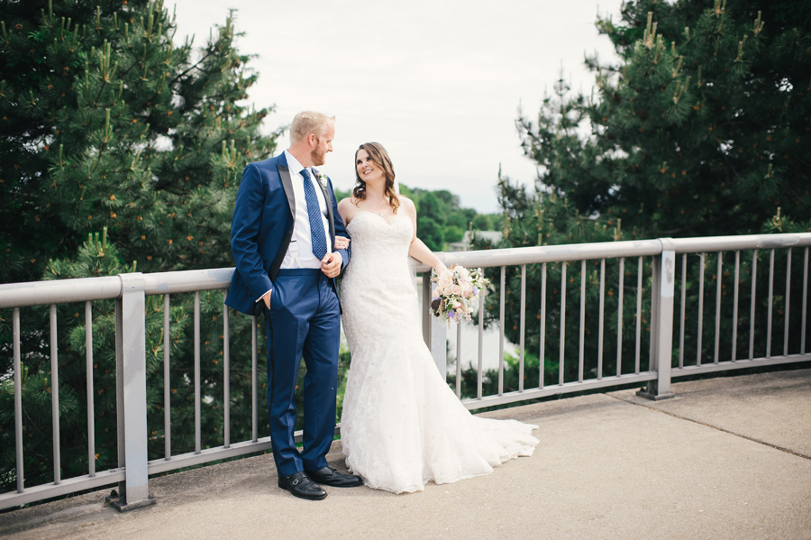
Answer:
<svg viewBox="0 0 811 540"><path fill-rule="evenodd" d="M150 495L147 451L146 329L143 276L119 274L115 301L115 382L118 413L118 465L125 469L118 497L107 498L121 511L155 504Z"/></svg>

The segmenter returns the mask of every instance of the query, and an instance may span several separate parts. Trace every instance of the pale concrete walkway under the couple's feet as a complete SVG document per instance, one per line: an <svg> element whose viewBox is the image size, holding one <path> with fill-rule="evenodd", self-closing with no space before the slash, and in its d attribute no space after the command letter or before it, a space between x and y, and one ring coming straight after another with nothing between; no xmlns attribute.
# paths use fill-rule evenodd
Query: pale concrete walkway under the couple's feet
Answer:
<svg viewBox="0 0 811 540"><path fill-rule="evenodd" d="M158 505L126 514L104 507L108 491L0 514L0 536L811 539L811 370L673 391L658 403L626 390L489 413L540 426L533 457L421 493L295 499L260 456L154 479ZM343 468L340 444L330 461Z"/></svg>

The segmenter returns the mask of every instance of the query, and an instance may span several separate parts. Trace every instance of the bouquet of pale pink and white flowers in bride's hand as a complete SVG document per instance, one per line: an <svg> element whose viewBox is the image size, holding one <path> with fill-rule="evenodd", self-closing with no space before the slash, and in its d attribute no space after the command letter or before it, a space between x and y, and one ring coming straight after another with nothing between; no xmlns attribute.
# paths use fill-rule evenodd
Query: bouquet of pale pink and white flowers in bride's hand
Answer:
<svg viewBox="0 0 811 540"><path fill-rule="evenodd" d="M436 283L431 302L433 316L446 316L448 324L451 320L458 322L462 317L470 320L479 292L490 286L490 280L484 277L480 268L466 269L458 264L451 265L439 276L433 276L431 281Z"/></svg>

